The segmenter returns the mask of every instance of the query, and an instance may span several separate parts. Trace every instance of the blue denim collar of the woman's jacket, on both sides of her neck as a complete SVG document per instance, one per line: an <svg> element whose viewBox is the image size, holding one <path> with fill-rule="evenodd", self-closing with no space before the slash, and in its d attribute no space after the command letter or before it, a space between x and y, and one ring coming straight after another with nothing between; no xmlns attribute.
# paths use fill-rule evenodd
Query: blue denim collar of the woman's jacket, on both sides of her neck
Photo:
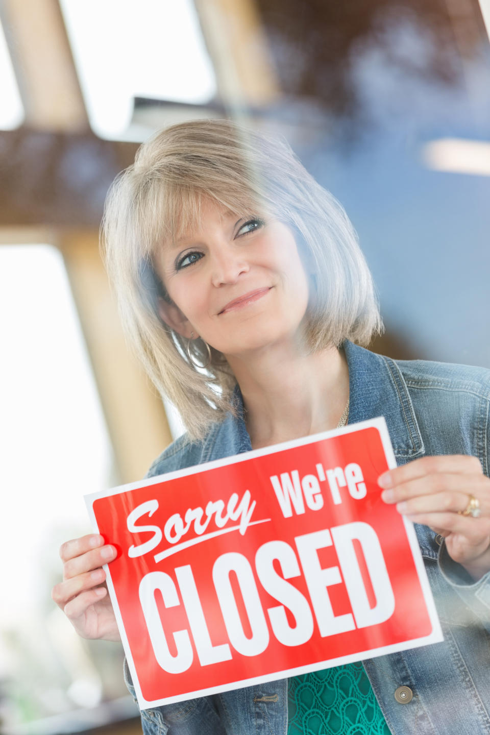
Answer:
<svg viewBox="0 0 490 735"><path fill-rule="evenodd" d="M349 368L349 423L384 416L394 456L402 460L402 463L403 460L423 456L425 448L414 406L396 362L349 341L342 347ZM238 386L234 392L234 401L237 418L228 416L223 423L212 427L203 445L201 462L251 450L250 437L243 420L242 394Z"/></svg>

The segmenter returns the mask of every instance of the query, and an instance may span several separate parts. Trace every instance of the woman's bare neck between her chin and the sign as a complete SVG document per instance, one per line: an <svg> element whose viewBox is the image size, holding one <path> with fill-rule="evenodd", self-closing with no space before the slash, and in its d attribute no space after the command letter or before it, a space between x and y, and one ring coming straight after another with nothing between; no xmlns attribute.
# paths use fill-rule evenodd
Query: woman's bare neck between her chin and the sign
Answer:
<svg viewBox="0 0 490 735"><path fill-rule="evenodd" d="M343 351L279 351L252 359L228 357L254 449L335 429L347 404L349 373Z"/></svg>

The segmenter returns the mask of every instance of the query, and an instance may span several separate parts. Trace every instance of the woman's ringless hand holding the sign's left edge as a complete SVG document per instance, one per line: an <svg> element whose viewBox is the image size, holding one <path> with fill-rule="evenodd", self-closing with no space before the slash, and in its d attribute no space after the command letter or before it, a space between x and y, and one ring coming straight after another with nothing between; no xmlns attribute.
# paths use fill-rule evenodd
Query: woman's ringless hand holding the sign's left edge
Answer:
<svg viewBox="0 0 490 735"><path fill-rule="evenodd" d="M104 583L102 564L116 557L114 546L104 545L101 536L90 534L67 541L60 548L63 581L55 585L51 597L82 638L119 641L120 635L112 603Z"/></svg>

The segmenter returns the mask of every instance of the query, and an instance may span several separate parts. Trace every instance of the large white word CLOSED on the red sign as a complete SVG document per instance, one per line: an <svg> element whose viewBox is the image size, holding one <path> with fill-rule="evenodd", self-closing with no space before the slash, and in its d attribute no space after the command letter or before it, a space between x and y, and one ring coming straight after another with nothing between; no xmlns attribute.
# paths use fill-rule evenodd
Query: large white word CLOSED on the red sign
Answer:
<svg viewBox="0 0 490 735"><path fill-rule="evenodd" d="M238 513L236 502L234 511ZM367 523L347 523L303 534L295 538L295 543L299 563L295 550L281 540L265 542L259 547L254 569L241 553L230 552L218 556L212 568L212 580L228 641L216 645L212 642L210 630L219 630L222 623L215 628L215 618L212 617L216 614L215 606L208 596L201 603L190 564L175 569L181 598L173 578L168 574L150 572L143 577L139 589L140 603L159 666L168 673L187 671L193 659L191 635L199 663L207 666L230 661L233 649L242 656L258 656L269 645L270 629L282 645L297 646L311 639L315 620L322 637L352 631L356 627L367 628L389 620L394 612L394 594L374 528ZM332 553L336 551L338 566L323 568L318 550L330 547ZM361 558L356 551L364 557L375 597L372 606L367 591L369 584L361 572ZM264 592L278 603L267 607L270 628L255 573ZM288 581L301 578L301 575L306 581L309 597ZM352 612L335 614L328 587L342 584L342 581ZM298 584L301 584L300 580ZM205 587L203 581L203 589ZM176 655L170 653L165 637L165 626L155 599L157 590L166 608L179 606L182 600L187 614L190 630L173 633ZM241 611L243 617L240 616ZM245 633L244 626L250 628L250 632Z"/></svg>

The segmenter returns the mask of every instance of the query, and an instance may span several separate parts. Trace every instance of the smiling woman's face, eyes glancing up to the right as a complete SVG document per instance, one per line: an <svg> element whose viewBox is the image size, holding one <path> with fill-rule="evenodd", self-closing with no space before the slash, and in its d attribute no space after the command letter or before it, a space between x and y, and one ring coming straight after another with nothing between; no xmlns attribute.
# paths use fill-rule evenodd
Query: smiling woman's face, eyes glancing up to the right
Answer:
<svg viewBox="0 0 490 735"><path fill-rule="evenodd" d="M162 319L226 356L295 343L309 299L291 230L281 222L203 203L195 232L165 245L155 268L172 304Z"/></svg>

